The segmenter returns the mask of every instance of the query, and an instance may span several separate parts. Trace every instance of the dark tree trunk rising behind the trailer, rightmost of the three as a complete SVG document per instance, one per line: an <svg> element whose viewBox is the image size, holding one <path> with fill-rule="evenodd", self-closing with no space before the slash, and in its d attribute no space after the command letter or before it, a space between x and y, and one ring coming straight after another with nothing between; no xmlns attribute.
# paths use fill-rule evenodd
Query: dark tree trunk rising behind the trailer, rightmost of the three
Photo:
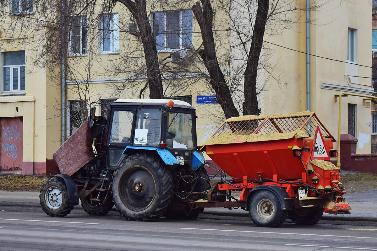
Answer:
<svg viewBox="0 0 377 251"><path fill-rule="evenodd" d="M259 56L263 46L263 37L268 16L268 0L258 0L257 14L254 23L254 32L251 39L250 51L248 53L247 64L245 69L243 114L259 115L261 109L258 105L256 90L257 87L257 70Z"/></svg>

